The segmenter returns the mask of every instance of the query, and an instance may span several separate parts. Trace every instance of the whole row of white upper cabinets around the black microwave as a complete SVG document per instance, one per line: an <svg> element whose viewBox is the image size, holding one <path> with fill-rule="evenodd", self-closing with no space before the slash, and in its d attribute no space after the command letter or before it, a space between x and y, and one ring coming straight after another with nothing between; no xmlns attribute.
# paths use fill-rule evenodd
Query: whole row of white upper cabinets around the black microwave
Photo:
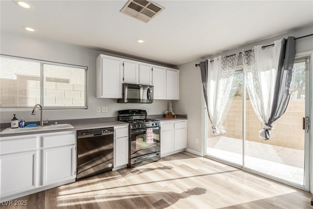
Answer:
<svg viewBox="0 0 313 209"><path fill-rule="evenodd" d="M100 54L97 98L122 98L122 84L154 86L154 99L179 99L179 70Z"/></svg>

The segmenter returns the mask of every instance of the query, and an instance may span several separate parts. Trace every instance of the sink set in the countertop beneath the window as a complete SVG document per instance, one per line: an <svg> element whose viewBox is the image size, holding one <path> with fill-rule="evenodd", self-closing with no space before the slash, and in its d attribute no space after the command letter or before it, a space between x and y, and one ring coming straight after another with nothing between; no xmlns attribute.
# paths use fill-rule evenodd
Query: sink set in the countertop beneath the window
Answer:
<svg viewBox="0 0 313 209"><path fill-rule="evenodd" d="M57 124L57 125L47 125L47 126L36 126L36 127L25 127L25 128L7 128L0 132L0 134L14 134L14 133L28 133L28 132L39 132L39 131L50 131L50 130L61 130L74 128L69 123Z"/></svg>

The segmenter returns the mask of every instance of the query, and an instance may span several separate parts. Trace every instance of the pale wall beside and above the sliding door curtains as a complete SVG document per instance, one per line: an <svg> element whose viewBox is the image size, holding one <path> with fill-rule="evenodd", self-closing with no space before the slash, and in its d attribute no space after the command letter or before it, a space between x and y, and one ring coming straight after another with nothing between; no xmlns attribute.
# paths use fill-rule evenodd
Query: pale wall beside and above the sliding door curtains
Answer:
<svg viewBox="0 0 313 209"><path fill-rule="evenodd" d="M213 58L218 55L233 54L242 49L248 50L255 45L272 44L273 41L287 38L288 36L300 37L308 34L313 34L313 26L294 30L283 35L268 38L255 43L247 43L247 45L224 51L210 57L204 57L179 66L179 101L173 102L175 113L188 115L188 133L187 133L187 148L195 152L203 153L204 151L204 130L203 130L203 95L201 85L200 67L195 67L200 61L207 58ZM230 34L231 35L231 34ZM313 50L313 36L299 39L296 41L296 53ZM242 63L242 59L238 60L238 64ZM197 144L196 138L202 139Z"/></svg>

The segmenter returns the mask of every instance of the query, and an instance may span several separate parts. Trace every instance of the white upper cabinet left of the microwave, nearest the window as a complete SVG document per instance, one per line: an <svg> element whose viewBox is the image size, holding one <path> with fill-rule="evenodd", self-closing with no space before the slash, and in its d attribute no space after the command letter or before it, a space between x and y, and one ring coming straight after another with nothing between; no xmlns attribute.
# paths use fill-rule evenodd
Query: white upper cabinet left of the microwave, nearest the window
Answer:
<svg viewBox="0 0 313 209"><path fill-rule="evenodd" d="M97 57L97 98L122 98L122 63L103 54Z"/></svg>

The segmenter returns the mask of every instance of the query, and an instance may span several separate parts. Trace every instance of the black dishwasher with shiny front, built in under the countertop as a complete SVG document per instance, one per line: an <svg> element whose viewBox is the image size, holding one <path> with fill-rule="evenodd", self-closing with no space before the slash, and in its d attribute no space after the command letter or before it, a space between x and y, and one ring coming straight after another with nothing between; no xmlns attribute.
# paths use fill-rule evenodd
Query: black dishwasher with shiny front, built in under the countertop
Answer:
<svg viewBox="0 0 313 209"><path fill-rule="evenodd" d="M113 168L113 128L77 131L76 181Z"/></svg>

